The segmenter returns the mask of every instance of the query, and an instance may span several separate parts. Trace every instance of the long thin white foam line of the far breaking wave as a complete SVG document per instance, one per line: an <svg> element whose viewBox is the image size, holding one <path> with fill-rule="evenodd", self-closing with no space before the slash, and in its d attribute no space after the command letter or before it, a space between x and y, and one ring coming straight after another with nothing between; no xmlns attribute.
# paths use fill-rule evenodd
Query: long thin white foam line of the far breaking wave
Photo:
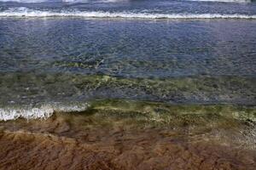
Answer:
<svg viewBox="0 0 256 170"><path fill-rule="evenodd" d="M0 17L84 17L84 18L123 18L123 19L256 19L247 14L149 14L103 11L41 11L30 8L9 8L0 12Z"/></svg>

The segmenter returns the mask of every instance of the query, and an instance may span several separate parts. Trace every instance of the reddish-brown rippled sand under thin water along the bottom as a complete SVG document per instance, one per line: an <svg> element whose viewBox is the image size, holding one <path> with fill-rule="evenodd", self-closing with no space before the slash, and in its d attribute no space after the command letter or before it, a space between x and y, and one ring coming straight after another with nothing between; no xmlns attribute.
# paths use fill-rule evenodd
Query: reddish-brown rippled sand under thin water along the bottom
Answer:
<svg viewBox="0 0 256 170"><path fill-rule="evenodd" d="M255 169L256 154L205 134L79 116L1 122L0 169ZM70 120L73 120L71 122ZM75 123L74 123L75 122Z"/></svg>

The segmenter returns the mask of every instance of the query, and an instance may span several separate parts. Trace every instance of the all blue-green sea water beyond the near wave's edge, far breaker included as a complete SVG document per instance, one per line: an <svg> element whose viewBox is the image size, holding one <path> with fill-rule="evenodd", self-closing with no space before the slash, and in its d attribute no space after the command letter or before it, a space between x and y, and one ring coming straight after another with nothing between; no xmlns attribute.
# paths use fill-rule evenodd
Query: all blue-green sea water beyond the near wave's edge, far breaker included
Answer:
<svg viewBox="0 0 256 170"><path fill-rule="evenodd" d="M1 1L0 115L91 99L255 105L255 19L242 1Z"/></svg>

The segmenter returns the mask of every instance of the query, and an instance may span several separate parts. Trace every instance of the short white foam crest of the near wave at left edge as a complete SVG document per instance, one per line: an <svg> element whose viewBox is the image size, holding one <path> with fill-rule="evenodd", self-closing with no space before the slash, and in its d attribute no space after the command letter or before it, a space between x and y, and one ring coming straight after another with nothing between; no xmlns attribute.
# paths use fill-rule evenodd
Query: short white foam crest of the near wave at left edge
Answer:
<svg viewBox="0 0 256 170"><path fill-rule="evenodd" d="M73 105L41 105L38 107L23 106L23 107L7 107L0 108L0 121L15 120L17 118L37 119L48 118L52 116L54 111L71 112L85 111L88 104L73 104Z"/></svg>

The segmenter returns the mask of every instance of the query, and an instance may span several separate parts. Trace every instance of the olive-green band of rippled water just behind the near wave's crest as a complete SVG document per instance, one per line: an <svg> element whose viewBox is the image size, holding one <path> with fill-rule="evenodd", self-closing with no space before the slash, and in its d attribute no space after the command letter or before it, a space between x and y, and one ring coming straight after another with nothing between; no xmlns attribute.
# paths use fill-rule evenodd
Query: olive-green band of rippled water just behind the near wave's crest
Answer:
<svg viewBox="0 0 256 170"><path fill-rule="evenodd" d="M255 77L113 77L69 73L1 73L0 105L93 99L176 104L255 105ZM22 101L20 97L22 96Z"/></svg>

